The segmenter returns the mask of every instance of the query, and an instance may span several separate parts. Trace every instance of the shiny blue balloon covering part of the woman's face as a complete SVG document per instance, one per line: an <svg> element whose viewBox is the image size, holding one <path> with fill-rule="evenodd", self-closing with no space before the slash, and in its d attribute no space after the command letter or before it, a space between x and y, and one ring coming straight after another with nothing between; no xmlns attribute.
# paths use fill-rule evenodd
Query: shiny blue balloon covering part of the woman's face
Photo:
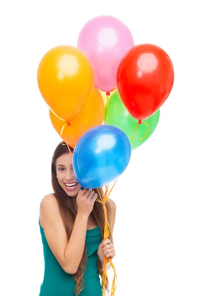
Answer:
<svg viewBox="0 0 197 296"><path fill-rule="evenodd" d="M87 131L73 152L77 182L85 188L99 188L115 181L131 158L128 137L112 125L99 125Z"/></svg>

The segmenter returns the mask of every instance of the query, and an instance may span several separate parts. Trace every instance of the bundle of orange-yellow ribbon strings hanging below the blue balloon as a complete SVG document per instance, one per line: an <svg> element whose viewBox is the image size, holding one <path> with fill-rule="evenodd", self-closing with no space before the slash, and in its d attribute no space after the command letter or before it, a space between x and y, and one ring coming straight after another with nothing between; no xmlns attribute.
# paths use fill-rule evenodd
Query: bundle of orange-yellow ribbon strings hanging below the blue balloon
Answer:
<svg viewBox="0 0 197 296"><path fill-rule="evenodd" d="M116 180L117 181L117 180ZM114 185L116 184L116 182L114 183ZM106 240L108 237L109 237L109 233L110 233L110 225L109 225L109 222L107 221L107 209L105 207L105 203L114 187L114 185L112 186L111 190L109 191L108 193L108 190L109 190L109 185L105 186L105 193L104 193L104 196L103 196L103 199L102 199L102 196L99 192L99 188L98 188L98 192L99 192L99 196L100 196L100 199L96 199L98 202L100 202L102 205L103 205L103 210L104 210L104 216L105 216L105 223L104 223L104 240ZM114 293L115 293L115 290L116 290L116 287L117 287L117 275L116 275L116 270L115 270L115 267L114 267L114 264L112 263L112 260L109 258L106 258L104 259L104 262L103 262L103 266L102 266L102 271L103 271L103 274L102 274L102 281L104 283L103 285L103 290L102 290L102 296L106 296L105 295L105 287L106 287L106 279L108 280L108 276L107 276L107 271L106 271L106 267L107 267L107 262L110 262L112 268L113 268L113 271L114 271L114 278L113 278L113 282L112 282L112 288L111 288L111 296L114 296ZM116 280L116 281L115 281ZM115 287L115 282L116 282L116 287Z"/></svg>

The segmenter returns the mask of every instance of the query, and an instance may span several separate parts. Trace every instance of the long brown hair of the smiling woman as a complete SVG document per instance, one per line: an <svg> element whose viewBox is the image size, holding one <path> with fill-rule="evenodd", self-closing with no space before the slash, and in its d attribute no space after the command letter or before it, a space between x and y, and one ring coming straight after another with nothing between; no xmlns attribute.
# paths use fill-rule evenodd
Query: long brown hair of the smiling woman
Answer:
<svg viewBox="0 0 197 296"><path fill-rule="evenodd" d="M73 229L73 225L74 225L74 221L75 221L77 212L76 212L74 204L73 204L73 199L70 198L66 194L65 190L60 186L58 179L56 177L56 160L57 160L57 158L60 157L62 154L69 153L68 147L65 144L66 144L65 142L61 142L54 151L53 158L52 158L52 164L51 164L51 173L52 173L52 186L53 186L53 190L54 190L53 194L58 200L60 213L61 213L64 225L65 225L66 234L67 234L67 237L69 240L71 233L72 233L72 229ZM73 152L72 148L70 148L70 150L71 150L71 152ZM98 190L99 190L100 195L102 197L103 197L103 190L102 190L102 188L94 189L94 191L98 194L98 199L100 200ZM106 201L105 206L107 209L107 216L108 216L107 221L109 222L109 224L111 226L111 222L110 222L111 208L110 208L110 204L109 204L108 200ZM100 239L102 241L103 240L103 233L104 233L105 217L104 217L103 205L100 202L95 201L92 214L95 217L95 220L97 221L97 223L99 225L100 232L101 232ZM111 233L109 234L109 239L111 240L111 243L113 244L113 238L112 238ZM78 296L80 294L80 292L85 288L83 275L85 273L87 263L88 263L88 256L87 256L87 248L85 245L84 253L83 253L81 262L79 264L78 270L75 274L72 275L74 281L76 282L76 285L74 288L74 295L75 296ZM103 284L104 284L102 281L103 271L102 271L102 267L100 266L100 263L99 263L99 258L97 260L97 266L98 266L98 272L101 276L101 287L103 289ZM108 283L108 280L106 279L105 290L107 292L109 291L108 287L109 287L109 283Z"/></svg>

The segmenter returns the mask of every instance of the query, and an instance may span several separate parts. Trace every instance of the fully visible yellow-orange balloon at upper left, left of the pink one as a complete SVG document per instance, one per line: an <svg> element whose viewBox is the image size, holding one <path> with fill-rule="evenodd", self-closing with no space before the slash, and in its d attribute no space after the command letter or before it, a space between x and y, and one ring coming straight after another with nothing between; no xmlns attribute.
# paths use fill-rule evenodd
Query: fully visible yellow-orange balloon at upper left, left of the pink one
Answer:
<svg viewBox="0 0 197 296"><path fill-rule="evenodd" d="M94 87L94 71L85 54L73 46L57 46L41 59L37 70L40 93L59 118L73 120Z"/></svg>

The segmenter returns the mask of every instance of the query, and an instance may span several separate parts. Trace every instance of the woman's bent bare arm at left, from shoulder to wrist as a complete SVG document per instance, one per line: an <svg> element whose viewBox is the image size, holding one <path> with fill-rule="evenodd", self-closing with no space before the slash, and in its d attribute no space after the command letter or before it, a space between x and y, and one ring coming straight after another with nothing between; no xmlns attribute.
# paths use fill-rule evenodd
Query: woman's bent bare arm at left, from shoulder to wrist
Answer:
<svg viewBox="0 0 197 296"><path fill-rule="evenodd" d="M40 217L46 240L54 256L67 273L76 273L84 252L88 216L79 213L76 215L69 241L58 201L53 194L42 199Z"/></svg>

